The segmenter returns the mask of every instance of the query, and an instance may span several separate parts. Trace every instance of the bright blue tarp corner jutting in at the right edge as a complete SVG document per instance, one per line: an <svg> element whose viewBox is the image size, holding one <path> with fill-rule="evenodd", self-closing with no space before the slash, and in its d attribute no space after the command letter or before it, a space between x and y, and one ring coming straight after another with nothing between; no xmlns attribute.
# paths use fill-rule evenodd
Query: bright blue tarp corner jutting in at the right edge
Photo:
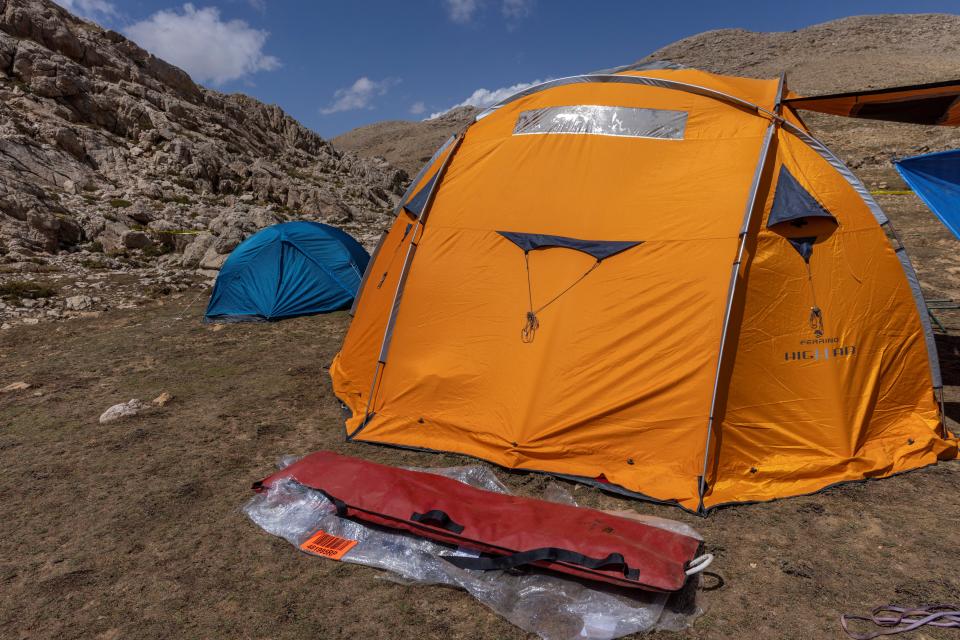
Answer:
<svg viewBox="0 0 960 640"><path fill-rule="evenodd" d="M894 162L914 193L960 239L960 149Z"/></svg>

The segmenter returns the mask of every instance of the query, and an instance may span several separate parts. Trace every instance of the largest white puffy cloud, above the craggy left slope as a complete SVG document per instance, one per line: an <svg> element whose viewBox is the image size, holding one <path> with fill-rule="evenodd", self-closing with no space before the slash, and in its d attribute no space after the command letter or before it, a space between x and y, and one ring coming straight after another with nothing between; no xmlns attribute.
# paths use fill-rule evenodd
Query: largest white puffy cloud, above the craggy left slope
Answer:
<svg viewBox="0 0 960 640"><path fill-rule="evenodd" d="M268 32L243 20L225 21L216 7L158 11L124 29L154 55L183 68L194 80L223 84L258 71L272 71L280 61L266 55Z"/></svg>

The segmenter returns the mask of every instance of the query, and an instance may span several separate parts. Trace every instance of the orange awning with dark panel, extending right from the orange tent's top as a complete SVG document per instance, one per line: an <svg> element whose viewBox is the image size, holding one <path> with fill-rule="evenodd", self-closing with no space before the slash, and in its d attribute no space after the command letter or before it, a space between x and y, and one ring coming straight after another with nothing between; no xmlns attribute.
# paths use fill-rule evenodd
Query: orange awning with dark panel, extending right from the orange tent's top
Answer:
<svg viewBox="0 0 960 640"><path fill-rule="evenodd" d="M960 126L960 80L790 98L794 109L850 118Z"/></svg>

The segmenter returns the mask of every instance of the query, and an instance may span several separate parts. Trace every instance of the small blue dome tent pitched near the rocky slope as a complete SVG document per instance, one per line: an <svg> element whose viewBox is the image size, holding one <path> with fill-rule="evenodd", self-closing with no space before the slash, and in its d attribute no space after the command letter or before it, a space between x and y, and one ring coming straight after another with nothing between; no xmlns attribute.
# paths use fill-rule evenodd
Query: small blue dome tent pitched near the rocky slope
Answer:
<svg viewBox="0 0 960 640"><path fill-rule="evenodd" d="M281 320L349 308L370 256L318 222L285 222L233 250L213 287L207 321Z"/></svg>

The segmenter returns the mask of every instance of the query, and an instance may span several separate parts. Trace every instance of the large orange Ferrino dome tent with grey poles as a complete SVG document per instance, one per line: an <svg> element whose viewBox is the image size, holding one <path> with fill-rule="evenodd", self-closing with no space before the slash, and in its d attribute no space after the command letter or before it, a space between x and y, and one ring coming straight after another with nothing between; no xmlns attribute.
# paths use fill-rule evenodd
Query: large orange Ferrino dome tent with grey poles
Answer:
<svg viewBox="0 0 960 640"><path fill-rule="evenodd" d="M481 113L367 270L348 439L700 512L955 457L914 270L786 97L625 70Z"/></svg>

